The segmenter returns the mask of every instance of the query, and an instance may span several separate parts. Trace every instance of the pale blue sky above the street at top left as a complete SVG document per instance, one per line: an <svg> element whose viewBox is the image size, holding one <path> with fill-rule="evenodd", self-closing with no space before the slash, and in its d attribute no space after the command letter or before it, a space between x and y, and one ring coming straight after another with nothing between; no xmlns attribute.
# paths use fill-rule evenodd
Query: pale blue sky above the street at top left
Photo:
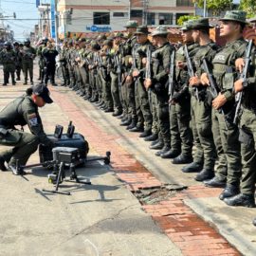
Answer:
<svg viewBox="0 0 256 256"><path fill-rule="evenodd" d="M41 2L45 3L46 0ZM4 23L14 31L15 40L23 41L27 38L26 34L33 31L34 26L38 24L39 13L36 8L36 0L0 0L0 7L4 17L11 16L5 17ZM16 20L13 19L13 12L16 13Z"/></svg>

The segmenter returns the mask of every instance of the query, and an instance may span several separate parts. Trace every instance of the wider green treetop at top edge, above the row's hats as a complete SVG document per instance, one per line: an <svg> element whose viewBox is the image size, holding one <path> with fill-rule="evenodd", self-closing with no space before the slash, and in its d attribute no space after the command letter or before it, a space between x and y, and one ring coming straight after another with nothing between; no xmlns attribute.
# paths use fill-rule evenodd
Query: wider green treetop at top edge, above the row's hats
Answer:
<svg viewBox="0 0 256 256"><path fill-rule="evenodd" d="M253 0L251 0L253 2ZM255 1L255 0L254 0ZM204 0L193 0L199 8L204 8ZM210 10L212 16L219 16L220 12L225 9L230 9L232 0L207 0L207 9Z"/></svg>

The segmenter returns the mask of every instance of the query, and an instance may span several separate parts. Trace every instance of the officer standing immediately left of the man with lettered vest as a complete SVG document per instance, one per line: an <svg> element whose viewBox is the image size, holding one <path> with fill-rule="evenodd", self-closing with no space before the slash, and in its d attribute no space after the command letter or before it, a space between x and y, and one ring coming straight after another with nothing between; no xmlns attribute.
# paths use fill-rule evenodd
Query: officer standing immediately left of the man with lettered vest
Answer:
<svg viewBox="0 0 256 256"><path fill-rule="evenodd" d="M195 180L204 181L214 176L216 150L211 132L211 97L206 86L201 84L200 77L203 72L203 59L212 69L211 62L219 47L210 40L208 19L195 20L191 27L193 41L200 45L192 57L195 76L190 78L190 86L192 87L192 111L195 113L194 129L196 129L200 140L204 162L194 161L190 166L184 168L183 172L200 172L196 175Z"/></svg>

